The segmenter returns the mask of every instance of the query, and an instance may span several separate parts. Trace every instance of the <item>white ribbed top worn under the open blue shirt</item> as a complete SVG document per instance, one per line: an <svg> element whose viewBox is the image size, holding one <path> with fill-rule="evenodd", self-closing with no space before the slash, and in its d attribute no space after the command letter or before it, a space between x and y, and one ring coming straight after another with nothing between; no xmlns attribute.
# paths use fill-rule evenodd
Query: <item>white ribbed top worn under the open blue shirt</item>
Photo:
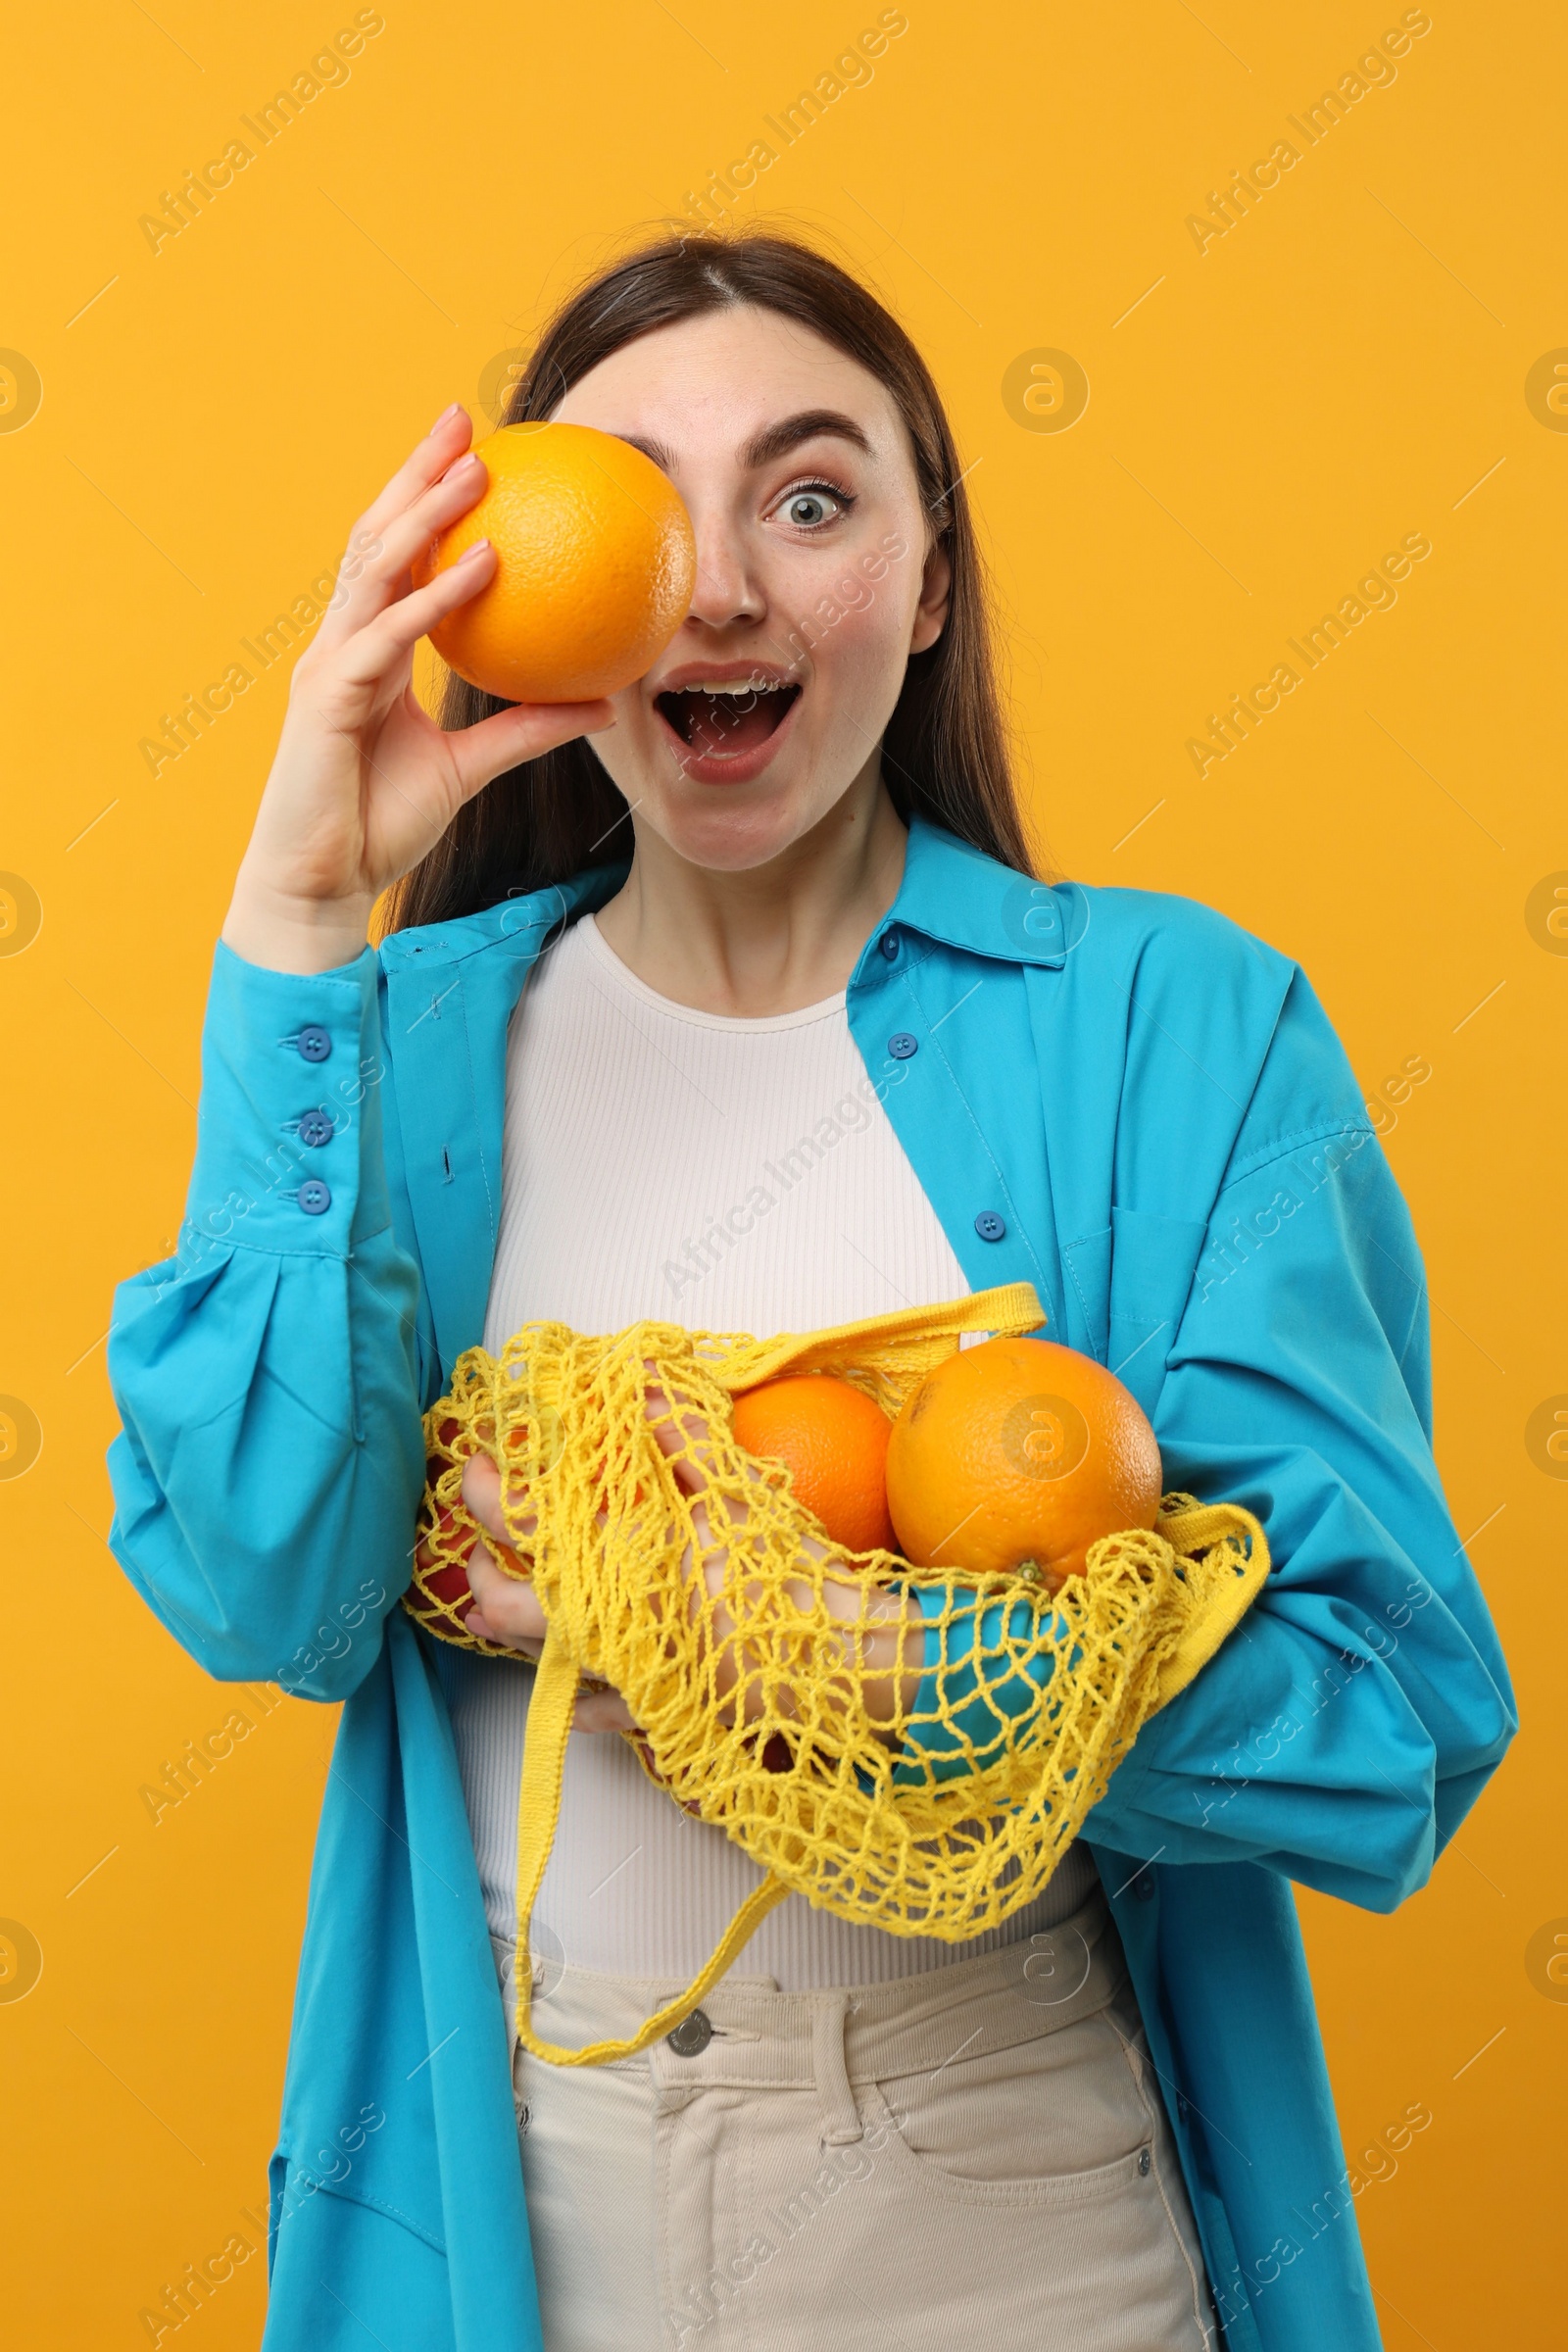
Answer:
<svg viewBox="0 0 1568 2352"><path fill-rule="evenodd" d="M654 995L592 915L545 953L508 1037L491 1352L538 1319L813 1331L966 1294L842 990L733 1021ZM534 1675L437 1646L489 1929L510 1955ZM759 1877L646 1778L623 1738L574 1731L531 1945L578 1969L686 1980ZM1074 1846L1039 1903L966 1945L889 1936L790 1896L743 1966L783 1992L914 1976L1065 1919L1093 1882Z"/></svg>

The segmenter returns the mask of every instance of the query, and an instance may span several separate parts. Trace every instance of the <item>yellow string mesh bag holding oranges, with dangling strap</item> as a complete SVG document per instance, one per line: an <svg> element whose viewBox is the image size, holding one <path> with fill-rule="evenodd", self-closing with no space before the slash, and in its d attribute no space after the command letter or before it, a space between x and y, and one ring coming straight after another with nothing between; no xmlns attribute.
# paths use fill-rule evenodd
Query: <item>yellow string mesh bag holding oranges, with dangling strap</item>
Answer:
<svg viewBox="0 0 1568 2352"><path fill-rule="evenodd" d="M790 1891L896 1936L959 1943L997 1926L1051 1879L1138 1729L1237 1625L1269 1550L1234 1503L1168 1494L1154 1529L1100 1538L1086 1571L1046 1595L891 1552L827 1552L788 1470L733 1439L731 1399L778 1374L839 1374L896 1414L961 1334L1041 1324L1032 1287L1009 1284L773 1341L658 1322L585 1338L541 1322L498 1357L458 1359L425 1421L430 1486L404 1606L442 1639L517 1658L465 1632L451 1606L475 1536L463 1463L489 1454L548 1625L517 1835L517 2030L536 2058L599 2065L668 2034ZM839 1597L844 1583L863 1590L858 1621L827 1606L827 1583ZM926 1632L896 1637L917 1703L893 1696L891 1719L875 1722L867 1684L886 1691L889 1677L867 1637L889 1585L945 1599ZM969 1651L969 1672L917 1684L933 1625L954 1668ZM529 1917L583 1677L623 1693L644 1769L764 1879L679 1999L632 2039L567 2051L531 2027Z"/></svg>

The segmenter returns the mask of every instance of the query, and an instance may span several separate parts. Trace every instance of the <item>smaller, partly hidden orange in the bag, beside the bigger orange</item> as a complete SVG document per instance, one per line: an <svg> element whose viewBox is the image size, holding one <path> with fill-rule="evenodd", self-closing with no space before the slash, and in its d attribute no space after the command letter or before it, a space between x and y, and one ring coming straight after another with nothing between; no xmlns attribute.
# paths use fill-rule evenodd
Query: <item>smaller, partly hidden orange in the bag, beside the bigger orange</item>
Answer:
<svg viewBox="0 0 1568 2352"><path fill-rule="evenodd" d="M748 1454L788 1468L797 1503L846 1552L893 1550L884 1479L891 1425L863 1390L825 1371L785 1374L736 1397L733 1432Z"/></svg>

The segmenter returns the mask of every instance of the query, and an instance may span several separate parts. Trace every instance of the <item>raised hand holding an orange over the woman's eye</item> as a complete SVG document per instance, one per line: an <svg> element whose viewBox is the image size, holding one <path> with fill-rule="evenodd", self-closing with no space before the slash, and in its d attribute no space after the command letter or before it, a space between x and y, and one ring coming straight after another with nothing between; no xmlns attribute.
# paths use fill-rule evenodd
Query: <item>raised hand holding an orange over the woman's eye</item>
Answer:
<svg viewBox="0 0 1568 2352"><path fill-rule="evenodd" d="M339 595L289 680L289 710L240 863L223 941L273 971L331 971L364 948L383 889L435 849L475 793L557 743L614 727L609 701L515 703L444 734L414 694L414 647L496 569L487 541L414 588L411 562L482 496L461 407L447 409L353 529Z"/></svg>

